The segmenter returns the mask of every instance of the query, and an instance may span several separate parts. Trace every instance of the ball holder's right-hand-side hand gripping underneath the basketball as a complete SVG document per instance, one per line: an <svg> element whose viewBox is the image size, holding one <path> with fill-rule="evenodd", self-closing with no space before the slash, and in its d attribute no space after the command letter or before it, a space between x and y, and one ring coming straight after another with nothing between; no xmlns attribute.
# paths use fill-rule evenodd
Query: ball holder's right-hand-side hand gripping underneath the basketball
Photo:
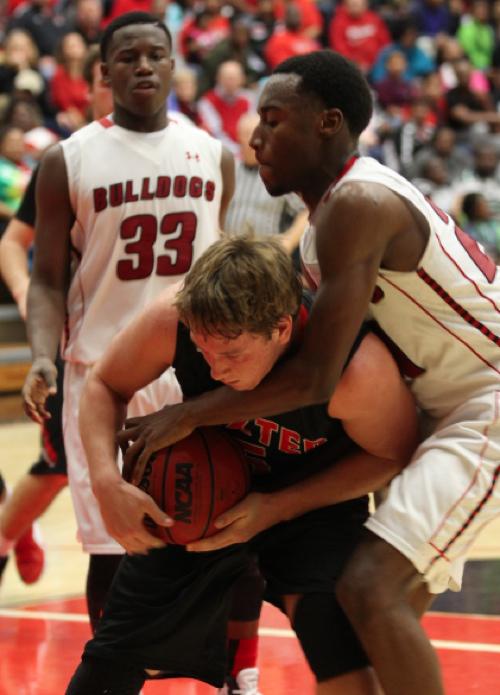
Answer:
<svg viewBox="0 0 500 695"><path fill-rule="evenodd" d="M190 543L187 549L207 552L226 548L234 543L245 543L282 520L280 507L274 504L272 495L251 492L216 519L215 525L221 529L219 533Z"/></svg>

